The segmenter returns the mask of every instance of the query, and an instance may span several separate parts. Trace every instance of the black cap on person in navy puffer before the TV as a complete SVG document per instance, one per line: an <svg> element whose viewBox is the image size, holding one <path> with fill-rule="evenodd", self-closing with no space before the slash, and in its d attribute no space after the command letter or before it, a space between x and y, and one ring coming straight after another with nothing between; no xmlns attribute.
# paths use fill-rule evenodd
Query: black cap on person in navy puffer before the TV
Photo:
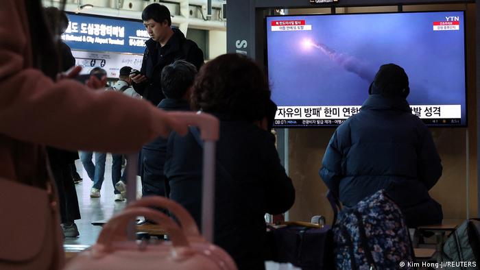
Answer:
<svg viewBox="0 0 480 270"><path fill-rule="evenodd" d="M407 73L396 64L380 66L370 85L369 93L384 97L407 97L410 93Z"/></svg>

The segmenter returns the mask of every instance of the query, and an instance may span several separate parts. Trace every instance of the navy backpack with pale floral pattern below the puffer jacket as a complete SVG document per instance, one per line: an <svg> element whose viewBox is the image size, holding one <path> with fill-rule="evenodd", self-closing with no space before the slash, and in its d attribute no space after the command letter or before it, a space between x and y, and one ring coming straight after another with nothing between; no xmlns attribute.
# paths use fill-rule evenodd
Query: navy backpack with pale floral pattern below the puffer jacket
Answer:
<svg viewBox="0 0 480 270"><path fill-rule="evenodd" d="M400 208L384 190L344 207L333 226L337 269L413 269L413 246Z"/></svg>

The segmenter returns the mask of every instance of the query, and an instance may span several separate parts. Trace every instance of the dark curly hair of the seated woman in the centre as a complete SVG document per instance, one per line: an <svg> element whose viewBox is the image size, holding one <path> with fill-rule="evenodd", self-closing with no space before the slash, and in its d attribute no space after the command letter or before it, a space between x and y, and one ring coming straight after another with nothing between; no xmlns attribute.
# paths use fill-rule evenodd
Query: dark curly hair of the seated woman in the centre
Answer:
<svg viewBox="0 0 480 270"><path fill-rule="evenodd" d="M256 121L269 115L269 100L270 89L261 68L246 56L228 53L200 69L191 107L232 119Z"/></svg>

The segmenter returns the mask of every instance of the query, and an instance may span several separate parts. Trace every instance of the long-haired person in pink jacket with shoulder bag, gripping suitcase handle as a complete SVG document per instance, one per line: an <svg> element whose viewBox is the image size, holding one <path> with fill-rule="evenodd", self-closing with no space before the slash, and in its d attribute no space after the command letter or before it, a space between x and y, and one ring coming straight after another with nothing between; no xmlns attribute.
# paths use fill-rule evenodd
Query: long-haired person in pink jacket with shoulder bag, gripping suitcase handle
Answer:
<svg viewBox="0 0 480 270"><path fill-rule="evenodd" d="M56 79L60 70L59 60L51 36L43 19L40 0L1 1L0 184L3 190L0 191L0 213L2 214L5 213L5 209L15 209L16 204L29 199L22 197L22 194L16 194L14 198L18 200L8 201L6 198L9 196L6 195L10 193L9 182L41 189L49 186L45 145L69 150L132 153L139 151L142 145L150 140L161 135L166 136L172 128L182 133L186 132L183 125L180 127L180 123L175 121L173 116L158 110L147 101L132 99L114 91L93 91L73 79ZM78 72L78 69L73 71ZM99 82L93 77L88 81L91 86L102 83L104 82ZM41 207L38 206L38 209ZM32 209L32 212L36 210ZM54 219L57 218L56 215L58 212L53 214ZM24 224L28 216L28 212L23 212L18 213L16 217L2 219L0 269L10 269L8 268L10 254L18 258L18 252L23 252L23 249L12 251L10 248L20 245L17 242L21 241L21 235L27 234L28 241L32 235L45 235L45 227ZM58 225L58 220L54 224ZM60 228L57 227L48 227L50 230L56 230L53 234L55 236L60 234L58 230ZM28 233L21 231L25 228L28 228ZM10 237L16 233L20 235ZM51 260L49 259L48 264L35 265L32 269L61 267L62 258L59 255L61 247L58 245L48 247L47 240L50 239L43 239L44 246L41 250L42 252L51 250ZM60 258L53 258L56 256ZM18 261L15 261L15 264L19 266Z"/></svg>

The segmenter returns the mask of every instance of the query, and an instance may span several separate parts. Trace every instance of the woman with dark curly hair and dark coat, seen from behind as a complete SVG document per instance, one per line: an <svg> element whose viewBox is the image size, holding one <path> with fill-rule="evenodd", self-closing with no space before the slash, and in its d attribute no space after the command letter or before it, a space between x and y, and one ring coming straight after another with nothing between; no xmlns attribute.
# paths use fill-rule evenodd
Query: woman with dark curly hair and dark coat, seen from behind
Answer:
<svg viewBox="0 0 480 270"><path fill-rule="evenodd" d="M200 69L191 107L220 119L214 242L239 269L264 269L265 213L287 211L295 190L270 132L276 106L263 71L252 60L225 54ZM202 145L195 130L169 137L165 176L170 198L200 225Z"/></svg>

